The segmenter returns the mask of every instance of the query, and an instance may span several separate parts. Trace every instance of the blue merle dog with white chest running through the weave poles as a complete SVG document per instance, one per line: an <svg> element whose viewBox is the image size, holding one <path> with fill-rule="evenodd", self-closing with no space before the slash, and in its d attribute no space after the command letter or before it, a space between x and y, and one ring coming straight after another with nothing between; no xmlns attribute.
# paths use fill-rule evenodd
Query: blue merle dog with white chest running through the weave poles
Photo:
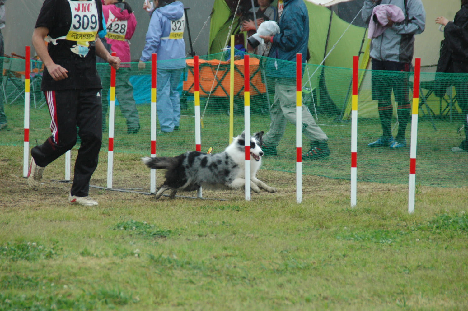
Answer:
<svg viewBox="0 0 468 311"><path fill-rule="evenodd" d="M260 189L276 192L276 188L267 186L255 177L262 165L263 131L250 137L250 188L260 193ZM170 198L176 196L177 191L195 191L203 187L207 189L240 189L245 187L245 136L234 137L233 143L219 153L207 154L198 151L187 151L177 157L144 157L141 160L149 168L166 169L166 180L156 193L159 199L168 189L172 192Z"/></svg>

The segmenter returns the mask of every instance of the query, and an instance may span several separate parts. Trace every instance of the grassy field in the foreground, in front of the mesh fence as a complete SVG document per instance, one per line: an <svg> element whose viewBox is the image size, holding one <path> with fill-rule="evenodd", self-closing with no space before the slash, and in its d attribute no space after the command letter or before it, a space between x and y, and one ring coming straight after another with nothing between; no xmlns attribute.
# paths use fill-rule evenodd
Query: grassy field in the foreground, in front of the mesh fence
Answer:
<svg viewBox="0 0 468 311"><path fill-rule="evenodd" d="M309 174L297 204L294 174L261 170L278 193L250 202L92 188L82 207L63 159L30 190L21 149L0 146L0 310L468 309L466 187L418 185L408 214L404 184L359 182L351 209L349 181ZM116 153L116 187L147 187L141 155Z"/></svg>

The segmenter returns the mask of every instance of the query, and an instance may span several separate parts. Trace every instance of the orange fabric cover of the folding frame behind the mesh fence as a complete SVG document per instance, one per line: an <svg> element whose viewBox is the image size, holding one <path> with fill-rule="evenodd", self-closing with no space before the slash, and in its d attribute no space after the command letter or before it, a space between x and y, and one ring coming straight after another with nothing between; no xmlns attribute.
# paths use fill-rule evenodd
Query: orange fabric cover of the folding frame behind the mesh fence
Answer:
<svg viewBox="0 0 468 311"><path fill-rule="evenodd" d="M186 59L189 72L187 80L183 81L183 90L188 93L193 93L193 58ZM261 71L259 70L260 61L258 58L251 57L249 59L250 73L250 95L265 93L265 83L262 80ZM219 59L204 60L199 59L200 67L200 96L229 96L229 81L231 78L231 65L229 61L220 61ZM219 65L219 70L216 72ZM216 73L216 80L215 80ZM214 83L213 83L214 81ZM244 59L234 61L234 95L241 96L244 94Z"/></svg>

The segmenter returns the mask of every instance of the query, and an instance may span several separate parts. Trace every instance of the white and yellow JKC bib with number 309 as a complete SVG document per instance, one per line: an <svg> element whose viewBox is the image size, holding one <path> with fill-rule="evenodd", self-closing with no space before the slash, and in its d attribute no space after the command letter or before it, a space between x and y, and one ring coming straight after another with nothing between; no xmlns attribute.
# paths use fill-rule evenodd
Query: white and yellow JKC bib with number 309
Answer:
<svg viewBox="0 0 468 311"><path fill-rule="evenodd" d="M70 41L95 40L99 30L99 19L95 1L71 1L72 24L66 35Z"/></svg>

